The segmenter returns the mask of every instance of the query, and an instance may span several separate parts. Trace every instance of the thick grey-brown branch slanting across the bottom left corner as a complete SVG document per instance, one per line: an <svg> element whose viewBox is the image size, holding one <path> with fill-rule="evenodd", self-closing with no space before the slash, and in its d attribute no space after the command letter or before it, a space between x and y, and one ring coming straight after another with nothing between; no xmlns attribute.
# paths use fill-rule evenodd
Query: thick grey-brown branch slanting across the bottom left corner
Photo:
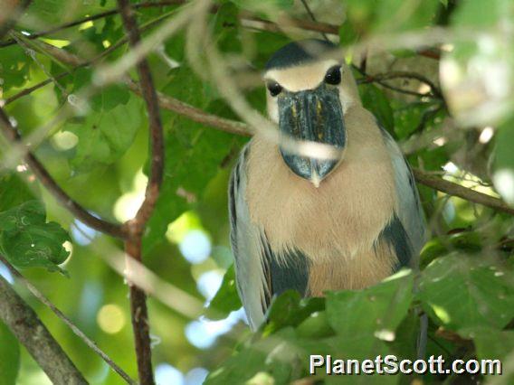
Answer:
<svg viewBox="0 0 514 385"><path fill-rule="evenodd" d="M23 343L54 384L87 384L81 372L55 341L33 309L0 276L0 319Z"/></svg>

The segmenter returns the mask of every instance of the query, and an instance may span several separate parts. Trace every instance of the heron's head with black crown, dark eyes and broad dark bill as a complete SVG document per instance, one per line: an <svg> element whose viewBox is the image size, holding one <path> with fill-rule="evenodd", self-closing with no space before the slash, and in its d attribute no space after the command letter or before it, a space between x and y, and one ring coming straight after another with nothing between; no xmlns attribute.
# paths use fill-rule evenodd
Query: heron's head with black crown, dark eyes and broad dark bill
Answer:
<svg viewBox="0 0 514 385"><path fill-rule="evenodd" d="M279 125L281 156L293 173L317 187L341 162L347 146L344 115L351 104L360 104L355 80L336 48L314 39L291 42L271 56L263 75L268 114ZM319 151L299 155L288 150L290 139L337 151L328 157Z"/></svg>

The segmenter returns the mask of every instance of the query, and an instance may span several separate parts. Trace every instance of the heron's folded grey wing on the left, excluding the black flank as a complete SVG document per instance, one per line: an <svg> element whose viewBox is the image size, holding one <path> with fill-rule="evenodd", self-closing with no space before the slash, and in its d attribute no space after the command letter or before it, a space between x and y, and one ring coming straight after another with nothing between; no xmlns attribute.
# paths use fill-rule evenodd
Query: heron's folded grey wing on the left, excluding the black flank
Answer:
<svg viewBox="0 0 514 385"><path fill-rule="evenodd" d="M231 243L234 255L237 291L248 321L255 330L262 324L271 301L270 269L266 254L271 250L262 231L252 224L246 203L246 168L249 145L241 152L229 183Z"/></svg>

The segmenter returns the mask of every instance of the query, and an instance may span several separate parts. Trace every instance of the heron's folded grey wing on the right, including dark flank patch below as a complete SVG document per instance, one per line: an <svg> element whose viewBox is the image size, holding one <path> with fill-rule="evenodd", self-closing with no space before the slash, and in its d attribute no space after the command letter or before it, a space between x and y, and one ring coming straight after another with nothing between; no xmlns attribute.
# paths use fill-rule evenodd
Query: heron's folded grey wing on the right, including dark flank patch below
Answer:
<svg viewBox="0 0 514 385"><path fill-rule="evenodd" d="M389 135L386 129L382 128L382 134L387 151L393 162L396 193L398 196L395 217L387 225L385 232L387 238L391 239L394 243L400 264L402 266L412 266L413 262L417 262L419 253L426 240L424 212L413 172L409 164L407 164L405 156L398 145L396 145L395 139ZM412 258L416 258L416 261L406 260Z"/></svg>

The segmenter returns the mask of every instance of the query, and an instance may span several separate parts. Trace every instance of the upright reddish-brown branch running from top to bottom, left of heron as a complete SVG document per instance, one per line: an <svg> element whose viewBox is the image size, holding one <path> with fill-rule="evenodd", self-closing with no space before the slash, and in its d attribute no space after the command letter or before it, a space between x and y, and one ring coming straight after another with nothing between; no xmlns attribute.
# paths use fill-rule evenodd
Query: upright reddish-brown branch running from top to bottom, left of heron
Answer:
<svg viewBox="0 0 514 385"><path fill-rule="evenodd" d="M125 30L129 34L129 43L132 48L138 46L141 41L138 23L130 8L129 0L118 0L119 12ZM154 87L150 68L146 58L142 58L137 64L141 94L147 105L148 124L150 131L150 175L148 178L145 200L133 220L126 223L129 238L125 242L125 250L128 258L142 261L141 239L143 230L154 211L160 191L160 185L164 174L164 135L159 115L157 92ZM136 356L138 360L139 381L153 384L152 352L150 349L150 331L148 324L147 296L138 286L130 284L130 315L136 344Z"/></svg>

